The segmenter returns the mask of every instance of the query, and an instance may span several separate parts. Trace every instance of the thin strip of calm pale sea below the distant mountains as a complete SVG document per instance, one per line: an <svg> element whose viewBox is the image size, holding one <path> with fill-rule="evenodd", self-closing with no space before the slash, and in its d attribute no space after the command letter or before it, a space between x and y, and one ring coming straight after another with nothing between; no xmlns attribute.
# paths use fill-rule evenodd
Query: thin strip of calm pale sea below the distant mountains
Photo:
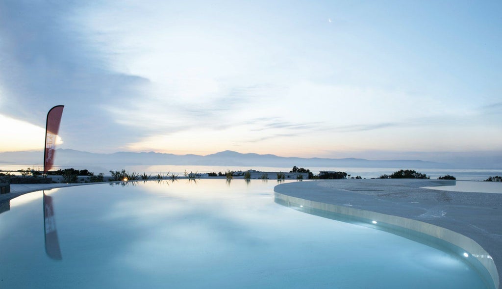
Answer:
<svg viewBox="0 0 502 289"><path fill-rule="evenodd" d="M0 169L2 170L19 170L26 169L27 167L37 167L35 164L31 165L20 165L20 164L0 164ZM40 166L39 166L40 167ZM59 168L67 168L67 167L59 167L55 166L54 169L57 170ZM88 169L89 171L94 172L95 174L104 173L105 175L109 175L110 170L122 170L125 169L129 172L137 172L137 173L147 173L156 175L157 173L174 173L182 176L185 172L199 172L199 173L208 173L208 172L226 172L227 170L231 171L246 171L248 169L254 169L259 171L282 171L289 172L291 167L270 167L270 166L208 166L208 165L114 165L110 164L109 166L73 166L75 169ZM379 177L383 174L392 174L395 171L400 169L414 169L414 168L379 168L379 167L306 167L310 169L314 174L319 173L321 170L331 170L331 171L344 171L351 176L361 176L362 178L374 178ZM41 168L40 168L41 169ZM489 176L500 175L502 176L502 169L415 169L421 173L425 173L431 177L431 179L436 179L439 176L443 175L453 175L457 178L457 180L485 180Z"/></svg>

